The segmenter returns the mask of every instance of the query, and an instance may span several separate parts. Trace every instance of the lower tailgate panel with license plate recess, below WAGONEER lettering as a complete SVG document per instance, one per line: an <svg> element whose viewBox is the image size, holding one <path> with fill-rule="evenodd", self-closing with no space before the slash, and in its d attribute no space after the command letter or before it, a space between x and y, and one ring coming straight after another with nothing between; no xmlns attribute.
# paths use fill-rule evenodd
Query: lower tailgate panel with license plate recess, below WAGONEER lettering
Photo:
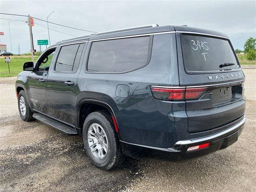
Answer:
<svg viewBox="0 0 256 192"><path fill-rule="evenodd" d="M218 128L244 115L243 82L204 88L198 100L186 101L188 132Z"/></svg>

